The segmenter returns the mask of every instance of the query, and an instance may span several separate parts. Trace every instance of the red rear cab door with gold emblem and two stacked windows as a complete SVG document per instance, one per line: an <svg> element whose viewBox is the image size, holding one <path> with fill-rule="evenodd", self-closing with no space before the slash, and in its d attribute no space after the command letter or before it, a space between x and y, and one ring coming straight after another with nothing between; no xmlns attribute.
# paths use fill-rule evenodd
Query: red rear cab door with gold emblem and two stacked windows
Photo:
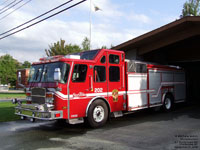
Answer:
<svg viewBox="0 0 200 150"><path fill-rule="evenodd" d="M121 111L125 97L124 58L121 53L107 53L108 93L111 111Z"/></svg>

